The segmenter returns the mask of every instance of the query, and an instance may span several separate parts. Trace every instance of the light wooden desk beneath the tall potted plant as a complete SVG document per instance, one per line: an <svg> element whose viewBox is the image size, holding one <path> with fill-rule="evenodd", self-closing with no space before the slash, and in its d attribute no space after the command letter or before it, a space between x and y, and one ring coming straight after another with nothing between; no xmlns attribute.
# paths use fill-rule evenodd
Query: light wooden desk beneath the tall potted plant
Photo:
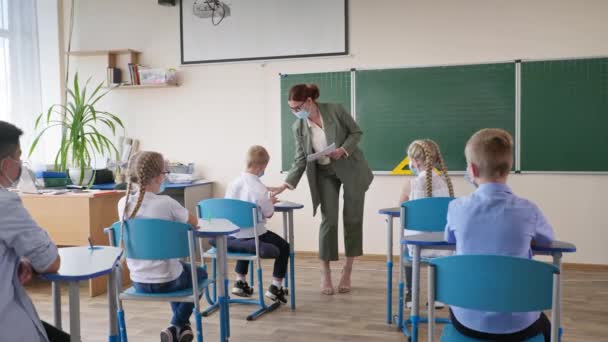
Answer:
<svg viewBox="0 0 608 342"><path fill-rule="evenodd" d="M107 245L104 228L118 221L118 200L124 191L89 191L81 193L20 194L23 205L32 218L44 228L53 242L60 246ZM126 273L126 274L125 274ZM128 272L123 279L128 280ZM89 282L89 295L106 290L104 277Z"/></svg>

